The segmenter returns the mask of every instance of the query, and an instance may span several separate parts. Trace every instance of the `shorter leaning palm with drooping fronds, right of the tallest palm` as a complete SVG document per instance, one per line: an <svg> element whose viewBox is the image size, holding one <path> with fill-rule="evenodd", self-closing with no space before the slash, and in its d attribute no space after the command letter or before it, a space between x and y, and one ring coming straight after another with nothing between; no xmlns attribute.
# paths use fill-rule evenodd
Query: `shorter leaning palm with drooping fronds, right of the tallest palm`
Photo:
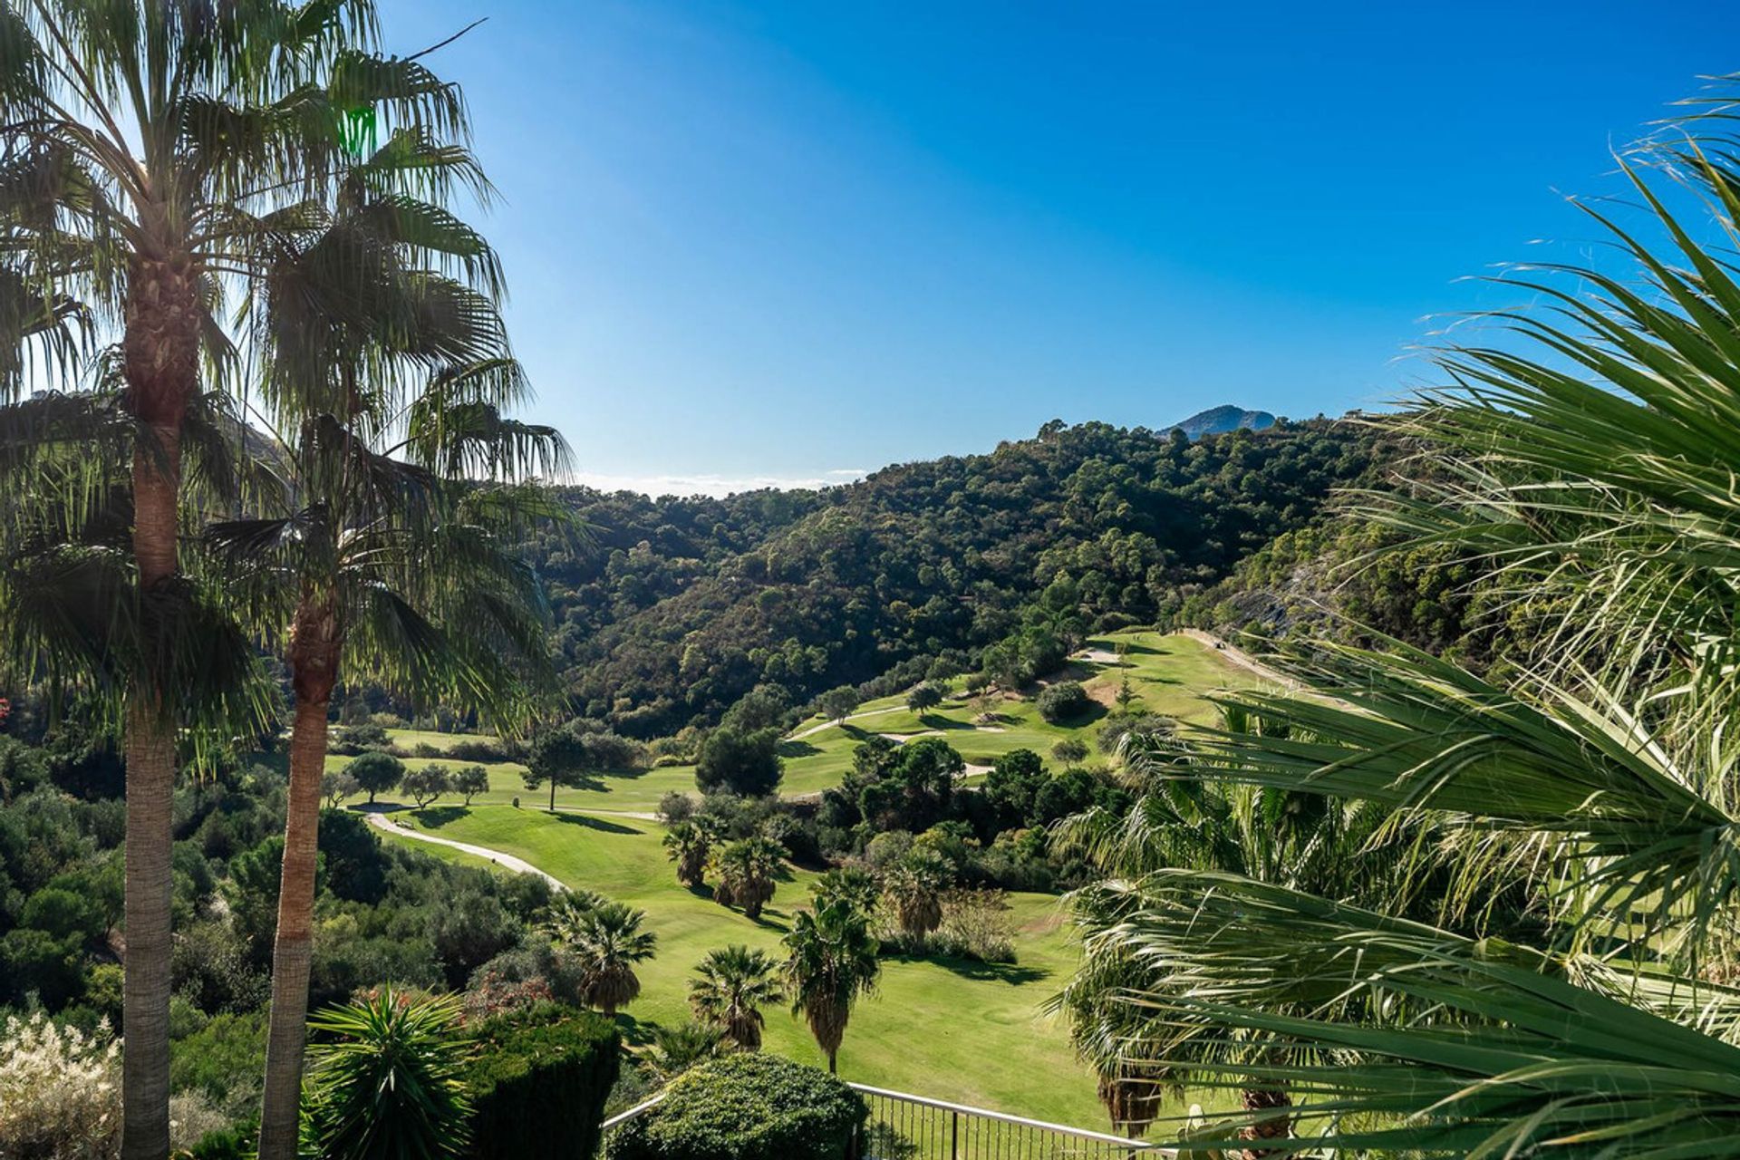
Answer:
<svg viewBox="0 0 1740 1160"><path fill-rule="evenodd" d="M412 703L475 708L498 732L553 689L543 595L506 539L552 506L489 485L559 468L566 445L501 417L524 384L492 304L419 264L492 264L475 233L404 190L442 167L472 162L395 136L343 176L324 230L275 243L252 308L287 487L270 517L209 530L244 579L261 581L259 619L282 640L294 692L266 1160L296 1148L332 689L360 678ZM405 219L444 228L407 230ZM329 283L334 266L358 264L376 270L367 297Z"/></svg>

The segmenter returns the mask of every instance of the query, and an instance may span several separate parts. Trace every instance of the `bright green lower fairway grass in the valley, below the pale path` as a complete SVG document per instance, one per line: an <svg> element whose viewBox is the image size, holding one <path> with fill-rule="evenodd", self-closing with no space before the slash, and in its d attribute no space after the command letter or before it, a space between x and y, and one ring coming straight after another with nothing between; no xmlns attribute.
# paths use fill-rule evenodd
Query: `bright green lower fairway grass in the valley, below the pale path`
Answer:
<svg viewBox="0 0 1740 1160"><path fill-rule="evenodd" d="M656 823L548 814L501 805L426 810L404 821L440 835L524 857L572 887L599 890L647 911L658 957L640 969L640 998L623 1014L630 1035L644 1023L687 1019L687 984L701 957L729 943L778 953L792 911L809 899L814 875L793 870L760 922L719 906L708 892L677 883ZM400 838L411 843L411 838ZM456 861L465 854L416 842ZM1061 929L1058 899L1011 896L1020 962L988 967L964 960L884 960L880 993L853 1012L840 1050L846 1078L1016 1115L1103 1129L1093 1077L1072 1056L1061 1021L1041 1005L1065 983L1075 951ZM825 1059L804 1023L767 1010L767 1050L806 1063Z"/></svg>

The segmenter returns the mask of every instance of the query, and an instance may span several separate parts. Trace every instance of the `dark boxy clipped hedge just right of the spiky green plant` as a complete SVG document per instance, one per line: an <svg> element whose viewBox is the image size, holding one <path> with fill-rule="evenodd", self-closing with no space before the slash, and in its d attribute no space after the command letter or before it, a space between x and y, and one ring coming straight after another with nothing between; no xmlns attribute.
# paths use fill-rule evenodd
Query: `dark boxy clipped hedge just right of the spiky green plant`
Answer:
<svg viewBox="0 0 1740 1160"><path fill-rule="evenodd" d="M604 1016L538 1003L473 1028L465 1075L473 1160L571 1160L599 1148L621 1037Z"/></svg>

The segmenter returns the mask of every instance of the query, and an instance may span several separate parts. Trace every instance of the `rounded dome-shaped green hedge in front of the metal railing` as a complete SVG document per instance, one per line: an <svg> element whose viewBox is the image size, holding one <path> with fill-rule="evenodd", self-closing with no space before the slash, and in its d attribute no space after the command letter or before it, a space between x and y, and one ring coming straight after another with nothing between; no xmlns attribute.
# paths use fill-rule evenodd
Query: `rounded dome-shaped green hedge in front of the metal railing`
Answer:
<svg viewBox="0 0 1740 1160"><path fill-rule="evenodd" d="M611 1137L609 1160L846 1160L870 1115L818 1068L736 1052L679 1077Z"/></svg>

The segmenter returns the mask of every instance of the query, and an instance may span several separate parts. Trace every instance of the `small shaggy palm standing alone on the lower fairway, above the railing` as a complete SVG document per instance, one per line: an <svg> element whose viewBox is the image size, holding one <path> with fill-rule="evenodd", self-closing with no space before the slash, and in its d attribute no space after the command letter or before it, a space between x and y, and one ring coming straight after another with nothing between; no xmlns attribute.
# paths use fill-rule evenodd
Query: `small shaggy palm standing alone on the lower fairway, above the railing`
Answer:
<svg viewBox="0 0 1740 1160"><path fill-rule="evenodd" d="M875 993L882 972L870 917L846 903L816 911L800 910L783 939L785 979L792 1014L802 1014L816 1045L835 1070L853 1003Z"/></svg>

